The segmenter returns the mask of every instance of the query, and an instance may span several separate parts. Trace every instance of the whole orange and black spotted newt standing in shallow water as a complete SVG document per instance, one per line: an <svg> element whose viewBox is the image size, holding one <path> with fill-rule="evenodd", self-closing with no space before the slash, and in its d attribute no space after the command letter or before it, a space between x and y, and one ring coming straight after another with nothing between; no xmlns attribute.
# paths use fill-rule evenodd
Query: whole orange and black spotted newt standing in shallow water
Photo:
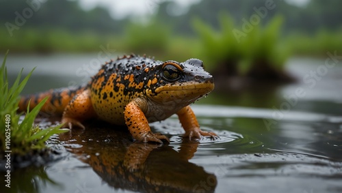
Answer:
<svg viewBox="0 0 342 193"><path fill-rule="evenodd" d="M102 65L83 86L51 89L25 95L19 110L34 108L49 97L41 111L62 115L62 123L72 129L85 129L83 121L99 118L116 125L127 125L139 142L170 142L167 136L153 133L148 123L178 115L185 130L184 137L217 136L200 130L190 104L210 93L213 76L205 71L202 61L157 61L139 55L124 55Z"/></svg>

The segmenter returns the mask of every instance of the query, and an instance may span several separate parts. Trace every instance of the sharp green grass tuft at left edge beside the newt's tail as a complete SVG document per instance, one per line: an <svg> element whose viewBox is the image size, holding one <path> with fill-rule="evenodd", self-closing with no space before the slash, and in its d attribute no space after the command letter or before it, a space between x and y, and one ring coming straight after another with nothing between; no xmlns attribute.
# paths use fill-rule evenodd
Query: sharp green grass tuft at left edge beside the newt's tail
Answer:
<svg viewBox="0 0 342 193"><path fill-rule="evenodd" d="M17 114L18 103L20 101L20 93L25 87L27 80L34 70L21 81L21 72L19 72L12 87L9 88L7 69L5 66L8 52L3 59L0 69L0 152L4 153L6 150L12 151L13 154L25 155L31 151L39 151L44 149L45 142L53 134L60 134L68 130L61 130L61 125L53 126L42 130L38 125L34 125L40 108L44 105L48 98L44 98L34 109L27 113L23 120L22 114ZM8 119L5 119L8 117ZM10 143L8 137L10 137Z"/></svg>

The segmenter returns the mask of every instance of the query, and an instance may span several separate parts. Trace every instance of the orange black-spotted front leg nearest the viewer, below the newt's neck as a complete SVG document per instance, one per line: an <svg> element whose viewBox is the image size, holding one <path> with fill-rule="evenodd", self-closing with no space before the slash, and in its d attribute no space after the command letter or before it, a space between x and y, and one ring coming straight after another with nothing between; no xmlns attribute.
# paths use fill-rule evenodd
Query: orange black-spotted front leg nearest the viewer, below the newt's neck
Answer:
<svg viewBox="0 0 342 193"><path fill-rule="evenodd" d="M161 140L167 140L170 142L168 137L159 133L154 134L151 132L150 125L148 125L148 121L144 113L134 101L130 102L125 107L124 121L126 121L129 132L131 132L131 135L137 141L141 141L143 143L148 143L149 141L163 143Z"/></svg>

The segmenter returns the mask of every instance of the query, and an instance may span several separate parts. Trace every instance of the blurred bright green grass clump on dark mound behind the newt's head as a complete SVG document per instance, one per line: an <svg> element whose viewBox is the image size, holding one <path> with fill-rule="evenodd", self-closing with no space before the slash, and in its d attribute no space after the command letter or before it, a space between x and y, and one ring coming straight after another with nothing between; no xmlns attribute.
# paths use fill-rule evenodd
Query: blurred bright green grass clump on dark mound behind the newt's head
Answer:
<svg viewBox="0 0 342 193"><path fill-rule="evenodd" d="M227 14L220 14L220 30L215 31L201 20L194 20L194 27L199 33L200 54L209 65L209 71L222 75L246 75L252 78L288 78L282 68L289 56L289 50L280 42L280 29L283 18L276 16L261 27L255 25L245 36L232 33L238 30L233 19ZM238 41L237 41L238 40Z"/></svg>

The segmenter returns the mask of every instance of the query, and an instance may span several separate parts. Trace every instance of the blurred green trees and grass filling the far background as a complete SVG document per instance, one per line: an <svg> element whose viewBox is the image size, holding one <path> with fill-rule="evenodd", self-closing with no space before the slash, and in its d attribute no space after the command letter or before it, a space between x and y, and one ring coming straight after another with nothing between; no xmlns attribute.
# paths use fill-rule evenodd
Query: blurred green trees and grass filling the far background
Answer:
<svg viewBox="0 0 342 193"><path fill-rule="evenodd" d="M161 60L197 57L210 72L224 75L287 79L282 69L290 55L325 57L328 51L342 51L341 2L311 0L296 6L274 1L266 9L265 0L200 1L185 14L172 15L179 7L161 1L155 14L139 22L111 18L105 7L82 10L79 1L47 1L18 29L0 29L0 51L98 52L99 46L109 44L118 53ZM14 13L28 6L25 1L2 5L4 24L16 24ZM252 16L259 21L244 31L245 20ZM236 30L244 35L237 38Z"/></svg>

